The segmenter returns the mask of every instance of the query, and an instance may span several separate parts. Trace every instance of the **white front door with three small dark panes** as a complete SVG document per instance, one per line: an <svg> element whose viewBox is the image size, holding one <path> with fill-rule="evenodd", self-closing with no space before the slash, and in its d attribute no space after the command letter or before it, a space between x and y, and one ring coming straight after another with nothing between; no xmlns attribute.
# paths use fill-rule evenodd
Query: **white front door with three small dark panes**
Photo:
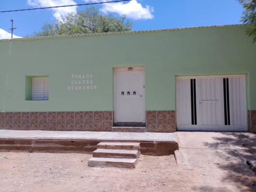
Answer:
<svg viewBox="0 0 256 192"><path fill-rule="evenodd" d="M145 68L114 68L114 122L145 123Z"/></svg>

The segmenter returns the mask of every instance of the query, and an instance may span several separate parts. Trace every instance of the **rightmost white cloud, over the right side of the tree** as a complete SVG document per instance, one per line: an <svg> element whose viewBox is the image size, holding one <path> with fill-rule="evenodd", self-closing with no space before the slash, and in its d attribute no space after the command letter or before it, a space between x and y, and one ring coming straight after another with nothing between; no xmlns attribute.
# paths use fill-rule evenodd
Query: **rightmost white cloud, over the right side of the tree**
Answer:
<svg viewBox="0 0 256 192"><path fill-rule="evenodd" d="M84 0L85 2L105 2L107 0ZM119 15L126 15L126 18L139 19L153 19L154 7L146 5L143 7L137 0L132 0L128 3L106 3L101 9L104 13L117 13Z"/></svg>

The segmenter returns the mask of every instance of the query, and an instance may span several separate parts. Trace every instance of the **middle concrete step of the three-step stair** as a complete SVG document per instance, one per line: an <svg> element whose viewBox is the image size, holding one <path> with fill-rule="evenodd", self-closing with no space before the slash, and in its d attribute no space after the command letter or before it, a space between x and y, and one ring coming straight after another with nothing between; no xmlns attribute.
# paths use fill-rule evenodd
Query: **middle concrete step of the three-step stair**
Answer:
<svg viewBox="0 0 256 192"><path fill-rule="evenodd" d="M137 158L138 150L124 149L96 149L92 153L93 157L109 157L109 158Z"/></svg>

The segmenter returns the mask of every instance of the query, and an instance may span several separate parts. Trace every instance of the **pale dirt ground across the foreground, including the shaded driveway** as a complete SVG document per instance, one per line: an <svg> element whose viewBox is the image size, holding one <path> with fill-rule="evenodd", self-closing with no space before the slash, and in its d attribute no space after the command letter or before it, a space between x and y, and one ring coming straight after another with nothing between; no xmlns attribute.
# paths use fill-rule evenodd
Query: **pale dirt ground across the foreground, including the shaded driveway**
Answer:
<svg viewBox="0 0 256 192"><path fill-rule="evenodd" d="M0 191L256 191L256 134L177 132L169 156L135 169L87 167L91 154L0 152ZM178 164L177 164L178 163Z"/></svg>

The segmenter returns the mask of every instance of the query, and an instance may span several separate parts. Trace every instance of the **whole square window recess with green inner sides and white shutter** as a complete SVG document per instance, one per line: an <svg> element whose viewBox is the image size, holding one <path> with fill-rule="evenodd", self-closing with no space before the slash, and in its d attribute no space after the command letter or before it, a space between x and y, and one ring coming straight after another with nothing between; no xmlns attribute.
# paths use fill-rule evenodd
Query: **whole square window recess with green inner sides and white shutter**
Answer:
<svg viewBox="0 0 256 192"><path fill-rule="evenodd" d="M25 99L49 100L49 77L47 75L26 76Z"/></svg>

